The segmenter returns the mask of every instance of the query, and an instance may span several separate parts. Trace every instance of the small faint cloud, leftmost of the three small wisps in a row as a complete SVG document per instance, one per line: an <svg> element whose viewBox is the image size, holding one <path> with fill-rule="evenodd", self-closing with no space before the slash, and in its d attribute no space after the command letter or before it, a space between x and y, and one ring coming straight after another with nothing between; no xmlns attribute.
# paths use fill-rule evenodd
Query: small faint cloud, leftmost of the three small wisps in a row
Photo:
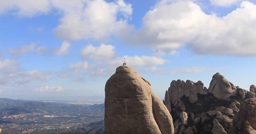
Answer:
<svg viewBox="0 0 256 134"><path fill-rule="evenodd" d="M9 53L11 53L12 55L16 55L16 56L19 56L19 55L23 55L25 53L28 53L29 51L33 51L35 49L35 44L32 43L30 45L24 45L24 46L21 46L21 48L19 49L9 49Z"/></svg>

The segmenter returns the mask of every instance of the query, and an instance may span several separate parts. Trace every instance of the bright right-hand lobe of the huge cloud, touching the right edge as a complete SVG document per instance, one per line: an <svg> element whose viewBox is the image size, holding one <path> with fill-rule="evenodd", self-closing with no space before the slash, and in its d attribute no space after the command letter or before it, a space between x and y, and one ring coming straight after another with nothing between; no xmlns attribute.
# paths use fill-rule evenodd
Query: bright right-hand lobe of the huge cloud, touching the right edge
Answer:
<svg viewBox="0 0 256 134"><path fill-rule="evenodd" d="M223 18L212 16L188 47L198 54L255 56L255 12L256 5L246 1Z"/></svg>

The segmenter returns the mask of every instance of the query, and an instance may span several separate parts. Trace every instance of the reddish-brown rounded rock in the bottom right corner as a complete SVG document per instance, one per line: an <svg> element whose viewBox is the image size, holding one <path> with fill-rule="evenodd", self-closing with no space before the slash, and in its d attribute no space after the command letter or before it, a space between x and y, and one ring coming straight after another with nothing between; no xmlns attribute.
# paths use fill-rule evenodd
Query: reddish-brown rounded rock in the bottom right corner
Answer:
<svg viewBox="0 0 256 134"><path fill-rule="evenodd" d="M228 134L256 134L256 98L245 100Z"/></svg>

